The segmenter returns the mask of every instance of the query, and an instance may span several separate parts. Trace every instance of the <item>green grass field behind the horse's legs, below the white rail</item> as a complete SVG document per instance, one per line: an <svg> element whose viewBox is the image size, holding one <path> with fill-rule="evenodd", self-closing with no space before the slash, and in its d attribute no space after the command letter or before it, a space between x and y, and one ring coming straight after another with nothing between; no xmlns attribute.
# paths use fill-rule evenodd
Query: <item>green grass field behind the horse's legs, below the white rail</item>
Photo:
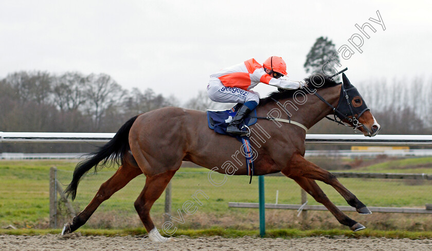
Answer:
<svg viewBox="0 0 432 251"><path fill-rule="evenodd" d="M361 172L405 172L432 173L429 166L432 158L412 158L391 160L379 164L368 165L355 170ZM58 168L58 179L68 184L75 161L0 161L0 227L9 224L20 228L47 228L49 215L49 168ZM87 175L80 183L74 206L82 210L93 198L100 184L111 177L115 169L104 168L97 175ZM213 180L222 181L222 175L213 175ZM432 203L431 181L373 180L373 179L340 179L359 199L368 206L419 207ZM208 169L181 168L172 180L172 211L176 212L183 203L191 200L191 195L198 189L209 197L203 199L204 205L197 213L185 216L186 223L177 226L179 229L200 229L212 226L232 229L256 229L258 226L258 210L244 208L228 208L228 202L258 202L258 179L254 177L252 184L245 176L227 176L227 181L215 187L208 181ZM145 183L140 176L131 181L105 201L83 226L83 228L119 228L140 227L133 202ZM343 198L330 186L319 182L330 200L336 205L347 205ZM279 191L278 203L300 204L300 188L291 179L285 177L265 178L266 203L275 203L276 191ZM152 208L152 217L157 226L163 223L164 198L156 201ZM308 204L316 205L311 197ZM61 207L60 209L63 209ZM266 210L268 227L274 228L340 228L339 223L327 211L308 212L308 221L303 222L294 210ZM361 216L349 213L350 217L368 225L373 229L407 229L432 230L430 215L405 214L373 214ZM59 217L60 224L67 217ZM59 225L60 225L59 224Z"/></svg>

